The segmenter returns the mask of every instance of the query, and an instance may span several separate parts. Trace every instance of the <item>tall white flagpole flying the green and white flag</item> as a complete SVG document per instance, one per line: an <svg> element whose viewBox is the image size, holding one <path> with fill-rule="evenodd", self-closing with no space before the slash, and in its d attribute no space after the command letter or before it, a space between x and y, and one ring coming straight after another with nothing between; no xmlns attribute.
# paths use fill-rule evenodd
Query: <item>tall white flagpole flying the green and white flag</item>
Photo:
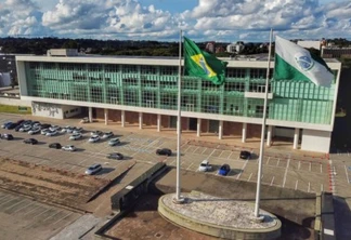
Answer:
<svg viewBox="0 0 351 240"><path fill-rule="evenodd" d="M266 69L266 76L265 76L265 91L264 91L261 145L260 145L259 166L258 166L258 173L257 173L257 188L256 188L256 203L255 203L255 217L258 217L258 218L260 218L260 194L261 194L262 161L263 161L265 120L266 120L266 102L268 102L268 91L269 91L269 80L270 80L270 69L271 69L272 36L273 36L273 30L271 28L268 69Z"/></svg>

